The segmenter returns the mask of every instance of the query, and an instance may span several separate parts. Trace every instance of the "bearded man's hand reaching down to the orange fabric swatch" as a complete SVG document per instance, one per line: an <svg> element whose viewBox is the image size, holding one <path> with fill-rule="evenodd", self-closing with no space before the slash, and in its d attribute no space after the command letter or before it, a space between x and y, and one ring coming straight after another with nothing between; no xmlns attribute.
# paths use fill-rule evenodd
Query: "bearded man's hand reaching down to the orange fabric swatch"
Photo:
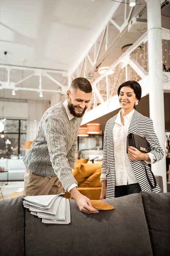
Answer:
<svg viewBox="0 0 170 256"><path fill-rule="evenodd" d="M79 209L81 212L90 214L90 213L97 213L99 212L97 209L94 209L94 207L91 204L91 201L89 198L87 198L85 195L82 195L76 187L70 190L70 193L74 200L76 201Z"/></svg>

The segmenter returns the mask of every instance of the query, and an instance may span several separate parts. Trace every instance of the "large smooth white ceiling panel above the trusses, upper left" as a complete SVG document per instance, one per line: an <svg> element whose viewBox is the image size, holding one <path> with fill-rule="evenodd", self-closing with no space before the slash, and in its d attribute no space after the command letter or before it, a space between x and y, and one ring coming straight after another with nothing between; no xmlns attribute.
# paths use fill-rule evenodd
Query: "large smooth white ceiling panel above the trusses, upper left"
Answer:
<svg viewBox="0 0 170 256"><path fill-rule="evenodd" d="M69 70L115 5L111 0L1 0L0 63Z"/></svg>

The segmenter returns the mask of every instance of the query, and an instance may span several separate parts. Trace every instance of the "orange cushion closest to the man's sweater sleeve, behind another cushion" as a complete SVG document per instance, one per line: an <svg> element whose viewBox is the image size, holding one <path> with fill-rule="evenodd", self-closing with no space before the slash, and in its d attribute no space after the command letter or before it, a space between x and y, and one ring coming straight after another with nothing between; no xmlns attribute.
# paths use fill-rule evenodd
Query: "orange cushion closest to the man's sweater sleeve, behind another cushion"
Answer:
<svg viewBox="0 0 170 256"><path fill-rule="evenodd" d="M73 176L77 180L78 185L86 178L93 175L96 170L102 168L102 161L99 163L80 163L73 171Z"/></svg>

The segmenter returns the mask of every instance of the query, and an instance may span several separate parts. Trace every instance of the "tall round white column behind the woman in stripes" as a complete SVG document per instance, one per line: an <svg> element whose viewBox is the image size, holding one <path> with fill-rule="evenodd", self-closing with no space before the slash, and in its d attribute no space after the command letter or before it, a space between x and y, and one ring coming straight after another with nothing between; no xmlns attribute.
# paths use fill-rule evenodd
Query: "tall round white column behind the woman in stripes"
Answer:
<svg viewBox="0 0 170 256"><path fill-rule="evenodd" d="M150 118L164 150L164 91L162 78L161 0L146 0L148 29L149 103ZM164 150L165 151L165 150ZM164 152L165 153L165 152ZM163 177L164 192L167 192L166 158L152 165L155 175Z"/></svg>

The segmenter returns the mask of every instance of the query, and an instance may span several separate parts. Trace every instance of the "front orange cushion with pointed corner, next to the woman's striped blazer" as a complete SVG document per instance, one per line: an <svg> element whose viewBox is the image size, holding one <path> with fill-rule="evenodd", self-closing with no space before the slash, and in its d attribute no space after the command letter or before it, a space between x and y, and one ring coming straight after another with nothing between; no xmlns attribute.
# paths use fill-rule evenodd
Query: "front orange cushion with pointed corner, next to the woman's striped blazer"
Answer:
<svg viewBox="0 0 170 256"><path fill-rule="evenodd" d="M102 184L100 183L100 174L101 169L98 169L92 174L90 177L85 179L80 185L79 188L85 187L100 187Z"/></svg>

